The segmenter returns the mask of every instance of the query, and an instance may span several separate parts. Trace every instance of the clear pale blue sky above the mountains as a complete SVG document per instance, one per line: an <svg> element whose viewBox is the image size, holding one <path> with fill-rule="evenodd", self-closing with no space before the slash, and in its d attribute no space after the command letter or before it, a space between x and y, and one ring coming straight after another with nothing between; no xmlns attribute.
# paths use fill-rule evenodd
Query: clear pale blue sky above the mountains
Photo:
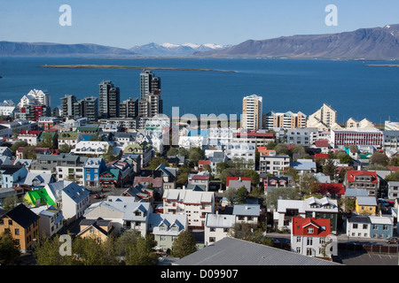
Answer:
<svg viewBox="0 0 399 283"><path fill-rule="evenodd" d="M72 26L59 25L70 5ZM325 6L338 26L325 25ZM238 44L293 34L330 34L399 24L397 0L0 0L0 41Z"/></svg>

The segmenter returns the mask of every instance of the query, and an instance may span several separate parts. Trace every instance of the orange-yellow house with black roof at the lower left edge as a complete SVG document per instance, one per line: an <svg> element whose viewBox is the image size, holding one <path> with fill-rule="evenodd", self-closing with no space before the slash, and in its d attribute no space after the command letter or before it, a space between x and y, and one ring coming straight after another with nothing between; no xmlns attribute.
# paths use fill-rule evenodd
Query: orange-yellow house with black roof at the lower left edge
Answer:
<svg viewBox="0 0 399 283"><path fill-rule="evenodd" d="M10 231L12 239L20 246L20 252L31 251L39 236L39 216L20 204L12 210L0 214L0 233Z"/></svg>

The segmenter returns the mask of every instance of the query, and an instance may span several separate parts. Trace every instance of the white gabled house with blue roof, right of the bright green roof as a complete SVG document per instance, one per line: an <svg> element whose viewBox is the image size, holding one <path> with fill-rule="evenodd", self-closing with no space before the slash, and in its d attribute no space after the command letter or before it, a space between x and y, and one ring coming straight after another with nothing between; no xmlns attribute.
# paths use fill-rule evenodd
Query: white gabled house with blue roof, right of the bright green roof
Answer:
<svg viewBox="0 0 399 283"><path fill-rule="evenodd" d="M72 182L62 189L62 214L70 222L83 216L84 210L90 205L90 192Z"/></svg>

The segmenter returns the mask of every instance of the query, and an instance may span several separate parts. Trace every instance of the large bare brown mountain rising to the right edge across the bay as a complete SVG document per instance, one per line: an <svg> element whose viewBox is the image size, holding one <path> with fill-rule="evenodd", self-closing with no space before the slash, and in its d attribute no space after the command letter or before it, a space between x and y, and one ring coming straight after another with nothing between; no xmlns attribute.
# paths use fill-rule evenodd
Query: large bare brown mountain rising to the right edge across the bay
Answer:
<svg viewBox="0 0 399 283"><path fill-rule="evenodd" d="M195 57L291 57L326 59L399 59L399 25L361 28L340 34L282 36L248 40Z"/></svg>

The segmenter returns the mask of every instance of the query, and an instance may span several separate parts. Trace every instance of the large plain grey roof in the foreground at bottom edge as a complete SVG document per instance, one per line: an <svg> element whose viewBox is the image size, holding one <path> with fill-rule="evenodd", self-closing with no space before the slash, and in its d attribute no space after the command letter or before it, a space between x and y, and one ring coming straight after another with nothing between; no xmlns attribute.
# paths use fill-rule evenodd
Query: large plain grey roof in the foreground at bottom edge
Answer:
<svg viewBox="0 0 399 283"><path fill-rule="evenodd" d="M340 265L292 251L226 237L174 265Z"/></svg>

